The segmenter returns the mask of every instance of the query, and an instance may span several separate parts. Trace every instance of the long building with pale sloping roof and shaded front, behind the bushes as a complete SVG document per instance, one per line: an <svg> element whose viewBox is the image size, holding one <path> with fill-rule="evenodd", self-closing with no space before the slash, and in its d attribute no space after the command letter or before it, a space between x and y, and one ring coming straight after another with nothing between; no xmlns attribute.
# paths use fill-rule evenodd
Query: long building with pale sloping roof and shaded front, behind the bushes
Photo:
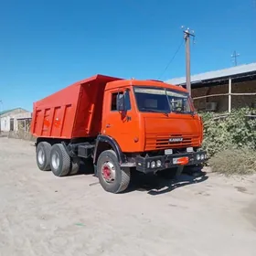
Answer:
<svg viewBox="0 0 256 256"><path fill-rule="evenodd" d="M185 77L166 82L186 87ZM197 111L256 108L256 63L191 76L191 89Z"/></svg>

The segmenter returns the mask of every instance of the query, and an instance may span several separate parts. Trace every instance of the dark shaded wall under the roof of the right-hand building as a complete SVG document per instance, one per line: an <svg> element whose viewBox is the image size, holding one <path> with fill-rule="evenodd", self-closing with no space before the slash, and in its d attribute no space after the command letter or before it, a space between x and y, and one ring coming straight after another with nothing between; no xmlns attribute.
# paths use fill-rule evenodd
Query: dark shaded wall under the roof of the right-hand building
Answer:
<svg viewBox="0 0 256 256"><path fill-rule="evenodd" d="M210 94L220 94L220 93L228 93L229 92L229 84L213 86L213 87L203 87L192 89L192 98L210 95ZM233 93L256 93L256 80L246 81L240 83L232 83L232 91ZM217 102L217 111L218 112L226 112L229 109L229 96L218 96L218 97L209 97L199 100L194 100L195 107L198 111L204 111L206 108L206 102ZM246 106L256 107L256 95L252 96L232 96L231 97L231 108L238 109Z"/></svg>

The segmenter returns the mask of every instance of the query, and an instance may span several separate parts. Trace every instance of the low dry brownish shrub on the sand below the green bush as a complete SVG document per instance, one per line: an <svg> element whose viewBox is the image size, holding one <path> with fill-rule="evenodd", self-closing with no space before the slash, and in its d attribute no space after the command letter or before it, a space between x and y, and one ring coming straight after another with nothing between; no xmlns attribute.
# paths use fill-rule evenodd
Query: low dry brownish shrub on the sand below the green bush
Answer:
<svg viewBox="0 0 256 256"><path fill-rule="evenodd" d="M230 175L256 173L256 152L250 148L228 149L209 159L213 172Z"/></svg>

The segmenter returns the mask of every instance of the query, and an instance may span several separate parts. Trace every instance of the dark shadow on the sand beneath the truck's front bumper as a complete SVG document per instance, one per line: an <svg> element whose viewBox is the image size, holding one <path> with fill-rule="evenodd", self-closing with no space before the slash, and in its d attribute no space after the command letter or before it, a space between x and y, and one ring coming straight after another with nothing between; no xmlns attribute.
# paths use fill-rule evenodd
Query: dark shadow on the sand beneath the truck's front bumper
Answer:
<svg viewBox="0 0 256 256"><path fill-rule="evenodd" d="M147 192L151 196L157 196L171 192L179 187L201 183L206 180L208 180L208 176L202 171L197 171L194 174L183 173L175 178L162 175L144 176L133 174L131 187L127 192L137 190Z"/></svg>

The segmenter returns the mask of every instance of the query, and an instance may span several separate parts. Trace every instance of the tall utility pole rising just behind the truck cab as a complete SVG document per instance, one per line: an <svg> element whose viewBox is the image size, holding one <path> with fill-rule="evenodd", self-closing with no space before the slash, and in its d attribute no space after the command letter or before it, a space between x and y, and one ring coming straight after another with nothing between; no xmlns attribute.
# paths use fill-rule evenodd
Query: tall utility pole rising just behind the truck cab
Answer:
<svg viewBox="0 0 256 256"><path fill-rule="evenodd" d="M184 28L184 27L182 27ZM187 27L186 30L183 31L184 33L184 39L186 43L186 88L191 96L191 74L190 74L190 37L195 37L194 31L190 31L190 29Z"/></svg>

